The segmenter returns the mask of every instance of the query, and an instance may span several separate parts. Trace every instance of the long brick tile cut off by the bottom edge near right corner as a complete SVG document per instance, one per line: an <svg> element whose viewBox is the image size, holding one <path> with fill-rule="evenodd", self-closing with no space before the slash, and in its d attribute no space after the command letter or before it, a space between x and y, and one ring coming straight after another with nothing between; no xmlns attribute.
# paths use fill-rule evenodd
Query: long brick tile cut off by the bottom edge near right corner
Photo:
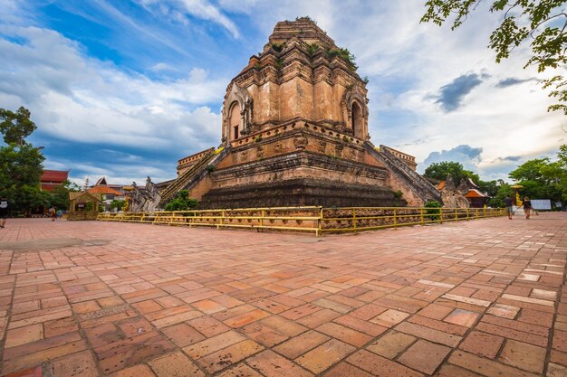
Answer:
<svg viewBox="0 0 567 377"><path fill-rule="evenodd" d="M536 377L537 374L531 372L524 372L520 369L497 363L493 360L485 359L476 354L466 353L464 351L456 351L449 357L449 363L456 366L463 367L469 371L482 374L487 377L501 377L501 376L514 376L514 377Z"/></svg>

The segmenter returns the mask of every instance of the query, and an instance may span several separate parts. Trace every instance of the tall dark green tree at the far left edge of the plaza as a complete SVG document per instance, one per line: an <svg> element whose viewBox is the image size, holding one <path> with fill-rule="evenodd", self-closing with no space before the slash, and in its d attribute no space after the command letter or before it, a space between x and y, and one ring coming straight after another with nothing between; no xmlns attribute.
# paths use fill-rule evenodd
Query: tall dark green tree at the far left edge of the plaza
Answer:
<svg viewBox="0 0 567 377"><path fill-rule="evenodd" d="M36 128L29 111L16 113L0 108L0 132L6 146L0 147L0 195L6 196L12 212L29 214L49 203L50 196L40 190L43 173L41 148L25 142Z"/></svg>

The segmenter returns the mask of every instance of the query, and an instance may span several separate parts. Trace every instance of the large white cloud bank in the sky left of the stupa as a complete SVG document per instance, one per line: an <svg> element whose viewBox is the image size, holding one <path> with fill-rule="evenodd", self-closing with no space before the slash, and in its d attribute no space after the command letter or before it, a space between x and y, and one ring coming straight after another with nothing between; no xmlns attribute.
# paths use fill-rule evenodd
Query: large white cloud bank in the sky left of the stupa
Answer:
<svg viewBox="0 0 567 377"><path fill-rule="evenodd" d="M209 102L222 99L226 80L193 69L178 80L157 81L82 56L76 43L53 31L1 27L24 38L0 40L0 100L28 106L41 130L83 143L146 149L217 143L220 115Z"/></svg>

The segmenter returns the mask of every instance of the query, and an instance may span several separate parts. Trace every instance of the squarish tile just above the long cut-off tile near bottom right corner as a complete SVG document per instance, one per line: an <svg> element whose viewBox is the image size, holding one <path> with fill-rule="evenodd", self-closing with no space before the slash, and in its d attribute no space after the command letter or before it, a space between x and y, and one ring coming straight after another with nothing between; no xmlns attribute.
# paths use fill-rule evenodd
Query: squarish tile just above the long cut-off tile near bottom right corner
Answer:
<svg viewBox="0 0 567 377"><path fill-rule="evenodd" d="M528 372L542 373L545 348L507 340L498 360Z"/></svg>

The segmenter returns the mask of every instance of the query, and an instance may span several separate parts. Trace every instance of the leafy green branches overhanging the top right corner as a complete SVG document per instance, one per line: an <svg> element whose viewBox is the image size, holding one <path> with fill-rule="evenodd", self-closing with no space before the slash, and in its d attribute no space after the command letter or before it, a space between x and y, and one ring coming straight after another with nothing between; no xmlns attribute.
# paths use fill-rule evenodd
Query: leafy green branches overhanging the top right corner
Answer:
<svg viewBox="0 0 567 377"><path fill-rule="evenodd" d="M451 19L455 30L466 21L482 0L428 0L421 22L441 25ZM496 62L524 43L530 43L532 55L524 68L537 67L562 71L567 62L567 13L564 0L492 0L491 13L502 14L502 23L490 35L488 47L496 52ZM567 115L567 80L561 74L543 80L543 89L553 87L549 96L559 103L548 108Z"/></svg>

